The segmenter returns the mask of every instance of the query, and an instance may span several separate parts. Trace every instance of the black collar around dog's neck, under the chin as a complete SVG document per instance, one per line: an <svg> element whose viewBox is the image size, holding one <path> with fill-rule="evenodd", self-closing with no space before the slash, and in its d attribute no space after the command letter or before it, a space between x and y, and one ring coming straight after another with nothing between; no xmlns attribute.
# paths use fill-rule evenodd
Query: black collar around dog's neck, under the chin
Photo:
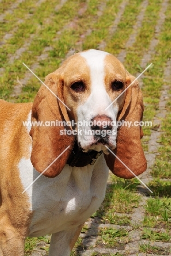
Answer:
<svg viewBox="0 0 171 256"><path fill-rule="evenodd" d="M97 158L103 153L97 152L95 150L89 150L89 152L82 152L82 149L79 147L78 142L75 141L72 153L69 155L67 164L69 166L83 167L86 165L95 164Z"/></svg>

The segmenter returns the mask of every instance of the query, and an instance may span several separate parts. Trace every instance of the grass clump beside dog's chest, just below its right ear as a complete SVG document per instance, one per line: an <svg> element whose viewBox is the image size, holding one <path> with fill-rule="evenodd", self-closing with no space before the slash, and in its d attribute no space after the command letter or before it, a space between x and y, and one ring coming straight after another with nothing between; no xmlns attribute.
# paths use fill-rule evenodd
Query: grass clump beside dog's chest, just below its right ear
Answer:
<svg viewBox="0 0 171 256"><path fill-rule="evenodd" d="M114 183L109 185L105 194L105 199L99 210L92 217L101 218L102 223L128 225L130 218L123 214L131 213L138 207L140 196L136 193L137 181L127 181L113 176Z"/></svg>

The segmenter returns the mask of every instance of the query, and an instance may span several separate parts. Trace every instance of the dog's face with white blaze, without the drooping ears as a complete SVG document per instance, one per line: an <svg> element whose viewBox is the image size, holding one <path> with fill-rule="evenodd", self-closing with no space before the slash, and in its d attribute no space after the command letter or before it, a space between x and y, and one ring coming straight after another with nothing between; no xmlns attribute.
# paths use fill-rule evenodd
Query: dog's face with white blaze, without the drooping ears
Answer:
<svg viewBox="0 0 171 256"><path fill-rule="evenodd" d="M63 98L71 109L68 115L76 123L78 142L85 152L89 149L107 152L104 145L111 149L116 147L115 124L125 101L126 82L121 62L104 51L75 54L67 63Z"/></svg>

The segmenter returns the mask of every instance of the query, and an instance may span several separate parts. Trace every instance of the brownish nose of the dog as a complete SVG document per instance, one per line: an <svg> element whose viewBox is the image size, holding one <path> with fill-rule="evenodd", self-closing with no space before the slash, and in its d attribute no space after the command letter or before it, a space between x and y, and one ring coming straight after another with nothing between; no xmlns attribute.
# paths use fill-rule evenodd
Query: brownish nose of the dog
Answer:
<svg viewBox="0 0 171 256"><path fill-rule="evenodd" d="M111 125L111 118L107 115L96 115L92 120L93 125L91 126L91 129L96 130L110 130L112 129Z"/></svg>

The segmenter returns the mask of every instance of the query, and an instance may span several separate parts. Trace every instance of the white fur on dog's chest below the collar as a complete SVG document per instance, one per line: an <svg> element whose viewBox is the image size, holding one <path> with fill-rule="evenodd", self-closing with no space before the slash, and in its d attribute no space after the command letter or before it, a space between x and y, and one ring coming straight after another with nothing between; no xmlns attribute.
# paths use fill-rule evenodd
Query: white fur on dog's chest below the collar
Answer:
<svg viewBox="0 0 171 256"><path fill-rule="evenodd" d="M22 159L20 178L26 189L39 173L31 161ZM40 176L27 193L33 217L29 236L51 234L78 226L101 205L108 178L103 155L94 166L66 165L55 178Z"/></svg>

